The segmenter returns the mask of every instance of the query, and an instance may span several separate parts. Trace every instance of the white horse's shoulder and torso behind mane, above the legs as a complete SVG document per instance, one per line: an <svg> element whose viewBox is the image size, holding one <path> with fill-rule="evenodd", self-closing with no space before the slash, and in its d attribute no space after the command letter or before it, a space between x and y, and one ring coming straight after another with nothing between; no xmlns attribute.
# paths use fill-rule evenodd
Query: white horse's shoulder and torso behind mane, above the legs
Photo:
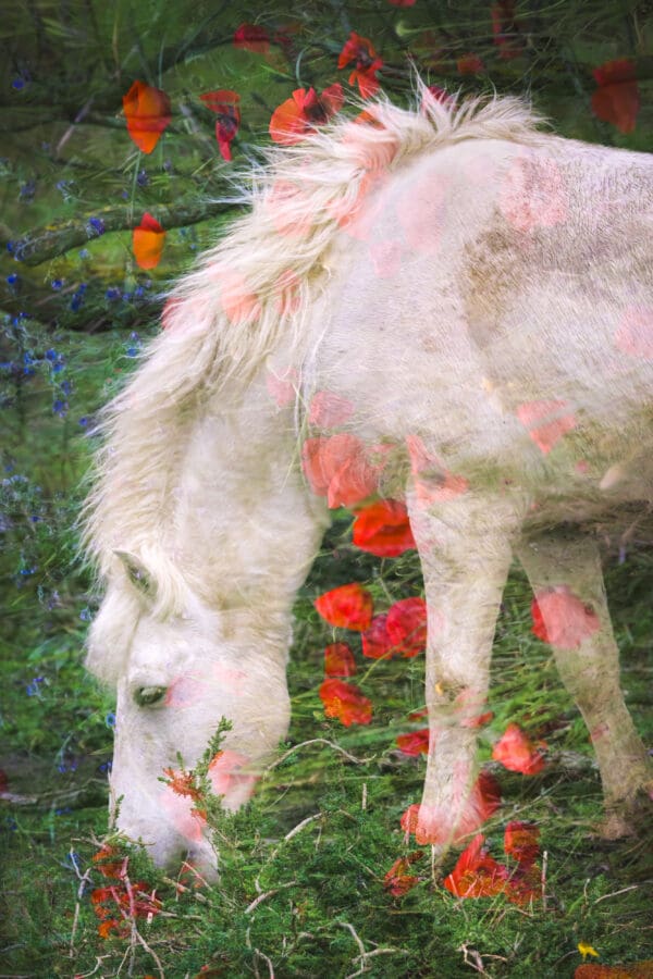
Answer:
<svg viewBox="0 0 653 979"><path fill-rule="evenodd" d="M648 156L465 140L369 198L334 249L306 363L310 389L355 406L358 434L420 435L464 475L571 496L651 455Z"/></svg>

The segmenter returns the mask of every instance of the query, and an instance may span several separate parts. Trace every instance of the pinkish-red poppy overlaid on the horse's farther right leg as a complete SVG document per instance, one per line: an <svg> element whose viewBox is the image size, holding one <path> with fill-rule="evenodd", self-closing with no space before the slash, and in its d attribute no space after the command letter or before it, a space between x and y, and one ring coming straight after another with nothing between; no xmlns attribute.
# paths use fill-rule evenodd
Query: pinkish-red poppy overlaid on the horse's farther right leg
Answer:
<svg viewBox="0 0 653 979"><path fill-rule="evenodd" d="M531 603L532 632L559 649L578 649L601 629L597 615L567 585L538 592Z"/></svg>

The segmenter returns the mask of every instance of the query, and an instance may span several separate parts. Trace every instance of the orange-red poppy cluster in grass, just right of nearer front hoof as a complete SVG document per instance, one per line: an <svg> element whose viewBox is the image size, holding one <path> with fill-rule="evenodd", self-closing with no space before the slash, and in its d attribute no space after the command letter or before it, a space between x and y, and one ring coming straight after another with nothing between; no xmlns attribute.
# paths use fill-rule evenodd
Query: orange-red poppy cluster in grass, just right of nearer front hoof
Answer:
<svg viewBox="0 0 653 979"><path fill-rule="evenodd" d="M513 904L527 904L540 896L540 870L535 859L540 831L532 823L509 822L504 834L504 851L515 860L513 869L498 864L484 846L479 833L444 879L455 897L495 897L504 894Z"/></svg>

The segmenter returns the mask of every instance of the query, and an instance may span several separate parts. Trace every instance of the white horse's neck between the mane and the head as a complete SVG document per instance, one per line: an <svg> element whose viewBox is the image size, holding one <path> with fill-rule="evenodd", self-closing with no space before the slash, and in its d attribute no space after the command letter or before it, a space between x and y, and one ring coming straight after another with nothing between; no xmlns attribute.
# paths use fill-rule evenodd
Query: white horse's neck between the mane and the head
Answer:
<svg viewBox="0 0 653 979"><path fill-rule="evenodd" d="M283 609L304 581L325 517L298 456L292 408L262 379L244 396L221 391L190 427L169 541L211 604Z"/></svg>

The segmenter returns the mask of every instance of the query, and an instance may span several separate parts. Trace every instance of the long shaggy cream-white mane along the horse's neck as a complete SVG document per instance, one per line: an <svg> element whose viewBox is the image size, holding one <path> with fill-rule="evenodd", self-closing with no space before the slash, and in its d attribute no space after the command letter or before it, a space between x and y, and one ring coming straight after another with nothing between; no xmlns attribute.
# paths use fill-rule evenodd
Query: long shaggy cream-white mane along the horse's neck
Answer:
<svg viewBox="0 0 653 979"><path fill-rule="evenodd" d="M244 388L281 338L300 338L326 277L322 262L370 174L464 139L546 138L517 98L443 102L420 82L416 95L412 111L381 98L361 120L267 153L243 194L250 212L174 287L163 331L101 413L104 444L82 517L86 554L101 577L119 568L114 550L139 557L157 579L162 615L178 610L187 588L159 542L188 426L221 385Z"/></svg>

